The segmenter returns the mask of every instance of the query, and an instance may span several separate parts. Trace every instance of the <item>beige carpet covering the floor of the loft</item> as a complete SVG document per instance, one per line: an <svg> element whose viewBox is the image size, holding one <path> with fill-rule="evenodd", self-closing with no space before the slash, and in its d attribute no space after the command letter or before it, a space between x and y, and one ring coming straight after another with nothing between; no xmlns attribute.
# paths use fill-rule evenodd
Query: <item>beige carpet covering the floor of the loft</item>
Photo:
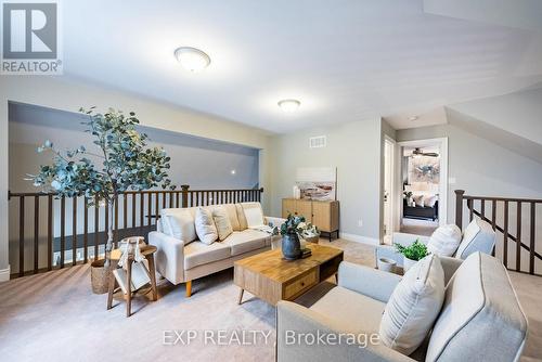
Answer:
<svg viewBox="0 0 542 362"><path fill-rule="evenodd" d="M332 245L345 249L347 260L374 266L371 246L344 240ZM512 279L530 323L522 360L542 359L542 277L513 273ZM184 298L183 285L172 286L163 280L158 290L156 302L138 297L136 313L127 319L124 302L107 311L106 297L91 293L88 266L2 283L0 360L274 361L274 308L248 299L248 294L247 301L237 306L238 289L232 283L231 270L195 281L194 295L189 299ZM164 332L170 329L195 329L197 338L188 346L164 345ZM205 329L211 331L207 344ZM219 337L221 329L227 331L224 339ZM245 339L256 345L214 345L231 338L235 341L234 333L243 329L259 331ZM267 342L261 333L268 337Z"/></svg>

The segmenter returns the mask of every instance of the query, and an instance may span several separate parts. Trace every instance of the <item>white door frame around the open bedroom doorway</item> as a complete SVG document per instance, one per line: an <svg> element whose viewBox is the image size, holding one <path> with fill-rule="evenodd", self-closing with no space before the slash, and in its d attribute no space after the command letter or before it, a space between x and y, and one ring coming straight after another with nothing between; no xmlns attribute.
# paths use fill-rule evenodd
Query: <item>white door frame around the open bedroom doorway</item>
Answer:
<svg viewBox="0 0 542 362"><path fill-rule="evenodd" d="M424 147L428 145L437 145L440 148L440 183L439 183L439 225L448 223L448 137L403 141L397 143L401 147ZM402 150L401 150L402 152ZM401 155L402 156L402 155ZM401 167L401 165L399 165ZM397 169L396 169L397 171ZM402 180L401 180L402 190ZM402 207L396 208L402 220Z"/></svg>

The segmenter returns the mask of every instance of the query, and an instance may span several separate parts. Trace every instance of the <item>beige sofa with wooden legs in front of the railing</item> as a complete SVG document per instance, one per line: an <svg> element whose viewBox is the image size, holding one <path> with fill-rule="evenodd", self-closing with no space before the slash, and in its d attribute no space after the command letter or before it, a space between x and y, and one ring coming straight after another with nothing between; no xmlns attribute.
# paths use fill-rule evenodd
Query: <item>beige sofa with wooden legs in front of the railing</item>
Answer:
<svg viewBox="0 0 542 362"><path fill-rule="evenodd" d="M233 233L222 242L210 245L197 240L182 241L176 238L170 231L168 222L172 222L171 216L179 209L163 209L157 223L157 231L149 233L149 243L157 247L155 254L156 271L175 285L186 283L186 296L191 296L192 281L205 275L233 267L233 262L271 248L272 242L280 236L272 236L269 232L246 224L244 210L247 208L259 208L259 203L241 203L205 206L203 208L212 210L223 207L233 225ZM195 219L197 207L186 208ZM263 215L261 212L261 215ZM263 217L263 223L273 223L280 227L284 219Z"/></svg>

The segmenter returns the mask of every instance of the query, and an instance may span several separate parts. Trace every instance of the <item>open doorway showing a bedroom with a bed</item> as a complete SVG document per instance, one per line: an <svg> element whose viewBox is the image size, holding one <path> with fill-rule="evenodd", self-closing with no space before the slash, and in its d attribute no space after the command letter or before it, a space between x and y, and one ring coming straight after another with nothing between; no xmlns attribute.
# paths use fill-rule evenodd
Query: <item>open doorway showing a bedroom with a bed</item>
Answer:
<svg viewBox="0 0 542 362"><path fill-rule="evenodd" d="M447 223L448 139L400 142L399 230L430 235Z"/></svg>

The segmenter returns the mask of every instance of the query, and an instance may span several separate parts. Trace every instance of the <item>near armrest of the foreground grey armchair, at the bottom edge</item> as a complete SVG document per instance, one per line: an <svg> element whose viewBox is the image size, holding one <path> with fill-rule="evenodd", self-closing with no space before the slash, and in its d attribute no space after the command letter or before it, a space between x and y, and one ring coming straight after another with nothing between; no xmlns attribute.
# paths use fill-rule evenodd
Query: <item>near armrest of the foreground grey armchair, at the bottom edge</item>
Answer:
<svg viewBox="0 0 542 362"><path fill-rule="evenodd" d="M279 362L414 361L384 346L376 332L354 334L356 342L348 339L347 334L352 336L351 331L341 331L337 322L324 314L291 301L282 300L276 305Z"/></svg>

